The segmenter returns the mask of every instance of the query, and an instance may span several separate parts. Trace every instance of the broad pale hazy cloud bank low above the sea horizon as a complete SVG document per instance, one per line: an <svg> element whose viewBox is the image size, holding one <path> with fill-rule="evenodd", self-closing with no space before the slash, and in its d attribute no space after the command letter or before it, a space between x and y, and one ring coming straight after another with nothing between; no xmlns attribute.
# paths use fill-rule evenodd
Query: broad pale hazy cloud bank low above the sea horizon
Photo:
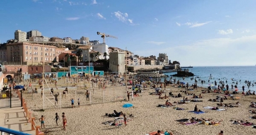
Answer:
<svg viewBox="0 0 256 135"><path fill-rule="evenodd" d="M179 61L182 66L253 65L255 67L255 44L256 35L251 35L236 39L207 39L190 44L169 45L164 48L155 47L149 48L149 50L135 51L134 54L147 56L157 55L159 52L167 53L172 60ZM225 57L226 54L231 54L231 56Z"/></svg>

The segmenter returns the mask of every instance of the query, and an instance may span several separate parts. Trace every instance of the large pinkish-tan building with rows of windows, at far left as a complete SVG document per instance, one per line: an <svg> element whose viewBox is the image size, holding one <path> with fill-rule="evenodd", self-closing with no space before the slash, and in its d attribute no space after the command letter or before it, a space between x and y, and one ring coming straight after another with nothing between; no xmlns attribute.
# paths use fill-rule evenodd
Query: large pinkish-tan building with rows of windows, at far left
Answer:
<svg viewBox="0 0 256 135"><path fill-rule="evenodd" d="M56 47L41 44L19 42L7 44L7 62L22 62L27 65L38 65L52 62L56 58Z"/></svg>

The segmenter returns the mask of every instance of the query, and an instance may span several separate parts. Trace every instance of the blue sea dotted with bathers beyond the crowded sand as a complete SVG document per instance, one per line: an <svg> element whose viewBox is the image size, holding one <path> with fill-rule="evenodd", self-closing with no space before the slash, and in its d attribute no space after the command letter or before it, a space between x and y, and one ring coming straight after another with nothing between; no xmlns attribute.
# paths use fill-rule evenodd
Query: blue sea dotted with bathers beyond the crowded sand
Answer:
<svg viewBox="0 0 256 135"><path fill-rule="evenodd" d="M184 68L182 68L184 70ZM230 66L230 67L193 67L193 68L185 68L189 69L189 72L194 73L194 79L190 80L193 77L172 77L172 79L176 78L176 80L180 80L184 83L189 83L192 85L195 83L195 78L197 79L197 85L203 86L207 88L210 85L214 85L214 81L217 81L217 85L220 85L220 81L224 81L225 86L229 85L229 90L231 89L231 85L236 85L239 88L239 91L242 91L242 86L245 86L245 91L251 90L256 91L256 66ZM174 75L175 72L172 73L164 73L169 77L167 80L170 80L171 75ZM210 78L212 76L212 78ZM205 80L205 83L201 83L200 80ZM162 80L164 80L162 78ZM226 83L227 80L227 83ZM251 81L251 86L248 88L245 80ZM254 83L254 86L252 86ZM221 86L221 85L220 85Z"/></svg>

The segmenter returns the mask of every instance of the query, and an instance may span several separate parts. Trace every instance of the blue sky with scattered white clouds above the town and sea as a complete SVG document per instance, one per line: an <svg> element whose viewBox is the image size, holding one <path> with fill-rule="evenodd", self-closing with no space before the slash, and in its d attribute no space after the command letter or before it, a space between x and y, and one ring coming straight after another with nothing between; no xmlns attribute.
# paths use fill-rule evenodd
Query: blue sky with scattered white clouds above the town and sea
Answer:
<svg viewBox="0 0 256 135"><path fill-rule="evenodd" d="M114 35L110 47L182 66L256 64L256 1L1 0L0 40L37 29L46 37Z"/></svg>

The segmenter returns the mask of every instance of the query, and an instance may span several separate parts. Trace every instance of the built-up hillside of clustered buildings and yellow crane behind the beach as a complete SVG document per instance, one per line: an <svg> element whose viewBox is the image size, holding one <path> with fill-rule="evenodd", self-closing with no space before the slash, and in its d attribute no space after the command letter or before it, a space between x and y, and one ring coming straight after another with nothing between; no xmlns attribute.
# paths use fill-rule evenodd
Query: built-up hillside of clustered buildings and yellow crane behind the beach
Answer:
<svg viewBox="0 0 256 135"><path fill-rule="evenodd" d="M104 37L114 37L100 32L97 34L101 35L103 41ZM143 57L135 55L129 50L109 47L99 40L89 40L89 37L82 36L80 39L46 37L39 30L29 32L16 30L14 39L7 40L6 44L1 44L0 62L2 65L37 66L28 68L28 73L32 69L41 68L43 63L44 65L61 63L62 66L67 67L86 66L90 62L90 65L94 67L105 67L107 71L118 73L125 72L125 65L133 67L134 70L162 69L163 67L173 69L176 68L175 65L179 65L179 62L176 61L172 64L167 54L159 53L158 57L154 55ZM51 68L47 69L51 70ZM30 73L34 73L34 71Z"/></svg>

